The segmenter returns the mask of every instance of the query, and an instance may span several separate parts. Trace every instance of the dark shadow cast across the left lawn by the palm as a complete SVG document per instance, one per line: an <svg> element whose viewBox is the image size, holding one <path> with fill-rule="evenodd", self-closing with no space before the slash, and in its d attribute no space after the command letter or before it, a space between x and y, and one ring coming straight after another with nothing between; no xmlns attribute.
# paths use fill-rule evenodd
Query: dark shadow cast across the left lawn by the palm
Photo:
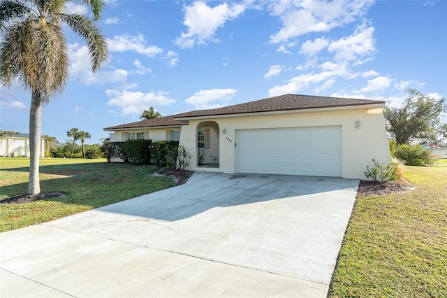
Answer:
<svg viewBox="0 0 447 298"><path fill-rule="evenodd" d="M28 169L1 171L28 173ZM157 170L154 166L107 163L41 166L41 192L66 194L64 197L41 201L61 201L97 208L175 186L171 178L152 176ZM27 179L28 175L21 177L22 181ZM1 187L0 194L13 197L26 194L27 189L27 182L15 183Z"/></svg>

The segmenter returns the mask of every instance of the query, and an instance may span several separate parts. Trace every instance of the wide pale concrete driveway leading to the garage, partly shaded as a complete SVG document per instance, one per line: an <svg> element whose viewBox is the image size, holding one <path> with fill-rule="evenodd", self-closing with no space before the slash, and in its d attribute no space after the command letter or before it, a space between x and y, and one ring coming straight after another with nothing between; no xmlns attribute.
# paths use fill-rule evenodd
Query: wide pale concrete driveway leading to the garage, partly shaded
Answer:
<svg viewBox="0 0 447 298"><path fill-rule="evenodd" d="M325 297L358 180L196 172L0 234L1 297Z"/></svg>

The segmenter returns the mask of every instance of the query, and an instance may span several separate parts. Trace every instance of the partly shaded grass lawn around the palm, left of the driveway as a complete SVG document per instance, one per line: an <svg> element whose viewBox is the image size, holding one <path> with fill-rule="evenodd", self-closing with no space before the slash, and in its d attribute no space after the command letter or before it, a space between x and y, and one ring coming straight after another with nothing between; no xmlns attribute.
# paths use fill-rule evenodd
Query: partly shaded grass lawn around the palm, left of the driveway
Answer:
<svg viewBox="0 0 447 298"><path fill-rule="evenodd" d="M0 204L0 232L47 222L175 186L150 176L152 166L107 164L105 159L41 159L41 192L64 197L27 204ZM29 158L0 157L0 200L27 192Z"/></svg>

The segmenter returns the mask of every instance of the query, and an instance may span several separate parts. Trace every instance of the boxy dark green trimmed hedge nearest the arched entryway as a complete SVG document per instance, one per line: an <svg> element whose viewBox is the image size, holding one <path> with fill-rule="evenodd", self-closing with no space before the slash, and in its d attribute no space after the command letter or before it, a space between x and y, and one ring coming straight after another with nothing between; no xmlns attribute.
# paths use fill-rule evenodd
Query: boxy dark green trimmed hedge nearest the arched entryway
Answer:
<svg viewBox="0 0 447 298"><path fill-rule="evenodd" d="M150 146L151 163L175 169L178 141L156 141Z"/></svg>

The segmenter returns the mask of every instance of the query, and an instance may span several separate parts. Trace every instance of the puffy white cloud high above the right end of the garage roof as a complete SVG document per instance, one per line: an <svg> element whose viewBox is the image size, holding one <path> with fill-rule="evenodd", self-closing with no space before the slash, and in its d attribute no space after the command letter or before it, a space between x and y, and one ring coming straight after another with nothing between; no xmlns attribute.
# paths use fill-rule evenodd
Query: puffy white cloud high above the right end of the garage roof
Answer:
<svg viewBox="0 0 447 298"><path fill-rule="evenodd" d="M368 58L376 52L373 34L374 28L365 28L363 24L354 34L330 43L328 50L335 52L334 59L337 62L353 61L355 64L362 64L362 58Z"/></svg>

